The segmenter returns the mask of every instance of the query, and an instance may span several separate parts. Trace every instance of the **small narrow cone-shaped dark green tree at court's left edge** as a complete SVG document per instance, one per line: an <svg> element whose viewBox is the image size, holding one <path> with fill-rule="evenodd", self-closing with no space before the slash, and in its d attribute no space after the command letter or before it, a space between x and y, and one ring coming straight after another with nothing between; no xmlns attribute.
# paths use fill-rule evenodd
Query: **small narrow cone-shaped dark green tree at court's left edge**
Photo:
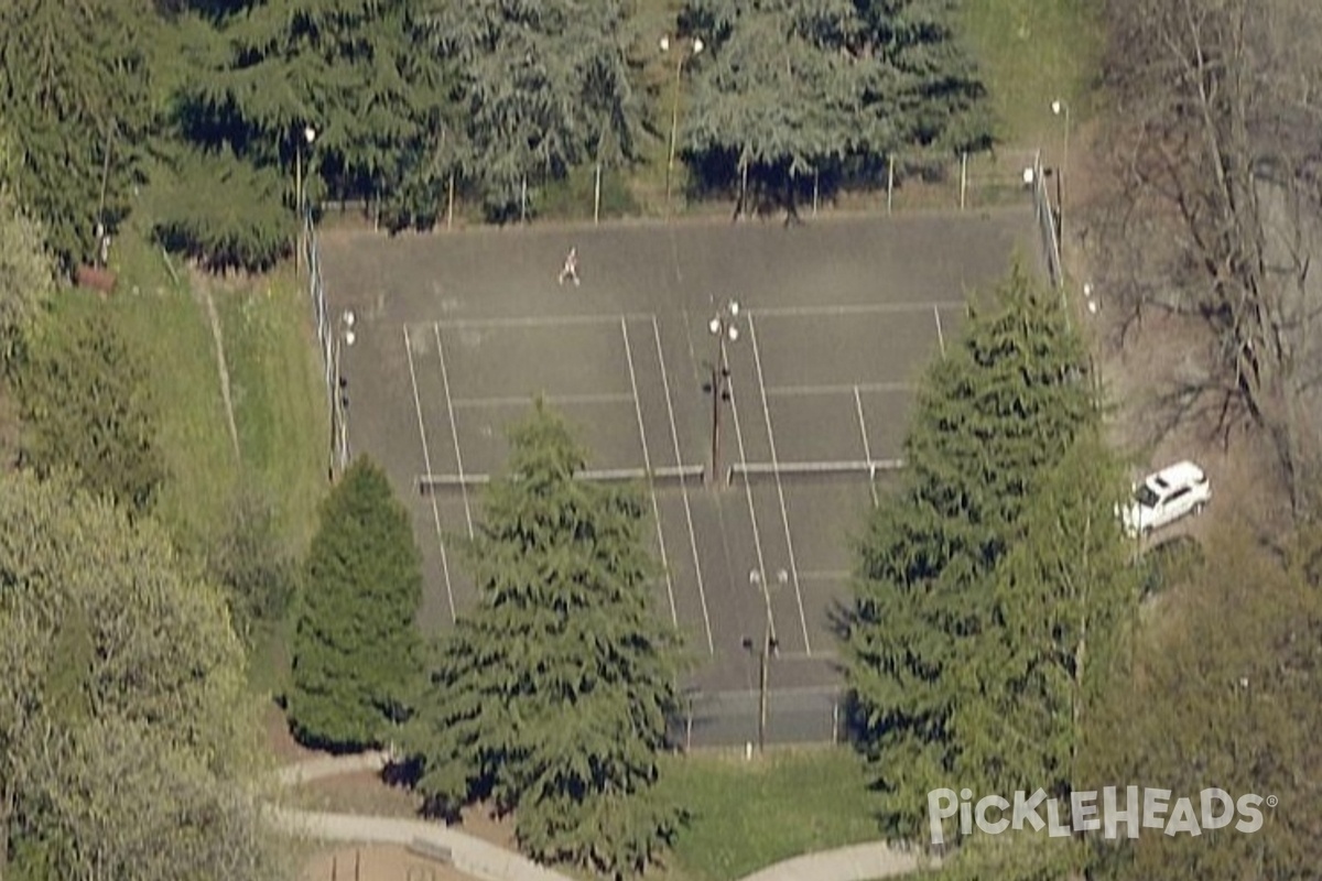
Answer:
<svg viewBox="0 0 1322 881"><path fill-rule="evenodd" d="M416 675L422 561L385 473L356 460L321 507L293 634L290 720L332 748L385 742Z"/></svg>

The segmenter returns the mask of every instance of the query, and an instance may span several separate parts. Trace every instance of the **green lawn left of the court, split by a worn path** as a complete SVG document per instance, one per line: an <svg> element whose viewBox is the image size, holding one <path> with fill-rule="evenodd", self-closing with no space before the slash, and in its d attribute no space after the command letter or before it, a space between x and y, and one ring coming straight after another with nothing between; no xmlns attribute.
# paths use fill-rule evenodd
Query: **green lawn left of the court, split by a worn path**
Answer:
<svg viewBox="0 0 1322 881"><path fill-rule="evenodd" d="M104 301L73 292L77 308L108 313L141 353L169 469L157 515L185 548L201 551L226 528L239 481L274 506L278 540L300 557L327 491L329 417L307 295L292 272L242 283L198 281L178 260L126 230L112 265L119 287ZM215 338L194 283L212 289L239 449L230 436ZM258 634L253 684L279 691L286 627Z"/></svg>

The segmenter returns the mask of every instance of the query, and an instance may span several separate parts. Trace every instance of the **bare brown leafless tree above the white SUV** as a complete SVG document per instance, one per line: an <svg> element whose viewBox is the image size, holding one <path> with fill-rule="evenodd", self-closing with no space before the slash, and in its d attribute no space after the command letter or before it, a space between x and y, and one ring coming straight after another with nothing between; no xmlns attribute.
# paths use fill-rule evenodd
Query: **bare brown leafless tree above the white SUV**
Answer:
<svg viewBox="0 0 1322 881"><path fill-rule="evenodd" d="M1105 281L1132 317L1206 325L1207 370L1185 391L1211 395L1222 428L1243 415L1266 433L1301 516L1322 470L1322 5L1110 0L1107 16Z"/></svg>

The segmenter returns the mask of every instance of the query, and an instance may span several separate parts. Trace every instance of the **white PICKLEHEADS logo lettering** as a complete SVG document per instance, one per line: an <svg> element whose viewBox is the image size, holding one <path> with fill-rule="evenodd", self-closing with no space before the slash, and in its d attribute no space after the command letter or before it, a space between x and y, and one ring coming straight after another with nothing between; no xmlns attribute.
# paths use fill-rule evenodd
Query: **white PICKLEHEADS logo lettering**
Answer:
<svg viewBox="0 0 1322 881"><path fill-rule="evenodd" d="M945 843L945 820L958 815L960 835L973 835L974 828L988 835L1014 829L1047 829L1052 837L1073 832L1100 831L1108 839L1118 835L1121 823L1125 833L1137 839L1140 829L1161 829L1163 833L1198 836L1203 829L1222 829L1233 823L1245 835L1263 828L1261 807L1274 808L1274 795L1245 794L1232 798L1220 789L1206 789L1195 796L1171 800L1171 791L1126 786L1120 790L1108 786L1101 793L1076 791L1066 799L1047 798L1040 789L1026 794L1022 790L1013 799L986 795L973 800L972 790L932 790L927 794L927 820L932 844ZM1063 816L1068 819L1062 822Z"/></svg>

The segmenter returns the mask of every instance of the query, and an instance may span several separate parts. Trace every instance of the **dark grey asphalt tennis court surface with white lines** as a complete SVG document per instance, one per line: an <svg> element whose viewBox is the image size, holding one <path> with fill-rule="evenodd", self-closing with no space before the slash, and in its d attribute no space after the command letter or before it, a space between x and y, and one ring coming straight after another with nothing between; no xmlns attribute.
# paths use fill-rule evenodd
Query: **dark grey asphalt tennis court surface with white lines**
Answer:
<svg viewBox="0 0 1322 881"><path fill-rule="evenodd" d="M747 235L723 226L710 235L728 236L728 254L738 256L740 239L751 239L748 250L772 263L752 277L740 277L738 262L720 272L713 264L703 280L694 269L702 260L685 260L682 232L665 227L605 234L599 247L596 230L505 234L533 240L531 252L543 258L524 247L517 259L486 268L475 265L481 260L472 251L486 252L472 240L449 252L439 242L420 260L401 258L399 267L414 268L399 279L381 271L373 279L370 260L353 259L361 244L324 247L332 308L357 317L356 345L344 358L353 390L350 445L386 465L414 512L427 567L424 625L447 626L475 600L456 539L481 522L481 489L456 482L420 493L419 478L498 474L506 428L527 415L534 396L570 421L590 469L706 468L713 417L705 384L718 358L707 322L726 292L743 291L740 335L726 347L731 399L720 411L720 472L736 469L735 479L713 490L690 476L649 494L648 535L665 561L653 585L656 608L686 635L702 688L755 687L746 641L759 643L768 619L779 646L773 688L834 687L832 625L847 597L850 543L869 507L895 485L888 468L903 457L914 386L958 334L969 289L1002 275L1011 246L1032 231L1031 214L981 231L968 218L954 227L947 238L982 243L957 281L948 263L869 271L880 259L876 248L845 252L846 263L836 244L834 262L810 283L784 246L797 242L796 230ZM939 242L943 229L937 223L919 238ZM858 230L814 231L828 232L847 238ZM690 252L701 258L707 238L690 239ZM776 239L781 246L771 247ZM580 289L554 283L566 242L579 243ZM617 260L620 251L633 252L633 277L623 269L612 276L605 259L605 277L594 277L594 255ZM792 269L777 269L776 259ZM427 260L434 275L416 268ZM500 284L502 271L509 287ZM465 281L465 273L481 283ZM876 470L776 473L822 462L873 462ZM743 469L756 476L746 479Z"/></svg>

